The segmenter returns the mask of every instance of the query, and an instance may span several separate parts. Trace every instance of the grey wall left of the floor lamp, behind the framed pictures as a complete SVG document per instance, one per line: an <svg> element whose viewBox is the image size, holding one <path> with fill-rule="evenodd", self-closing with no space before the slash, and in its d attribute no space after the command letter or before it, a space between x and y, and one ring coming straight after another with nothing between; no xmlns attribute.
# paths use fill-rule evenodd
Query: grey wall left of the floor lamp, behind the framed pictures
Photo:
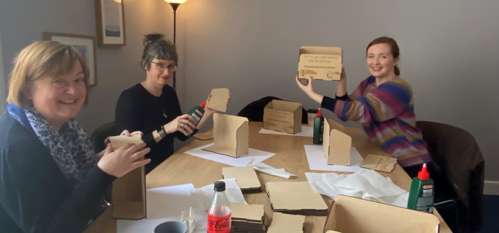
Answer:
<svg viewBox="0 0 499 233"><path fill-rule="evenodd" d="M124 0L125 47L97 48L98 86L90 90L89 105L77 116L90 134L114 121L120 93L145 79L140 67L143 35L173 31L173 10L164 0ZM96 35L94 0L1 0L0 29L5 77L11 60L23 47L42 39L42 32Z"/></svg>

